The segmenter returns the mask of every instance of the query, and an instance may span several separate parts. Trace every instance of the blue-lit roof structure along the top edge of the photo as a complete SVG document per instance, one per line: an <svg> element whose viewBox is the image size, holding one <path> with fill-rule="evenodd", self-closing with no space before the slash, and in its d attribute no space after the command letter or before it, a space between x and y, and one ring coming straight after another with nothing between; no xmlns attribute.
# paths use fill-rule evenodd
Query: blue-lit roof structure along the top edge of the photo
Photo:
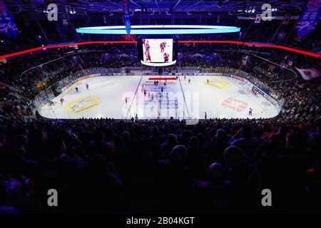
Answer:
<svg viewBox="0 0 321 228"><path fill-rule="evenodd" d="M232 0L128 0L131 11L215 11L228 12L235 11L238 14L245 13L245 10L255 8L260 11L263 4L269 3L280 13L300 12L305 6L302 0L266 0L266 1L232 1ZM123 0L11 0L6 1L7 6L14 13L24 11L29 14L43 14L46 6L51 3L58 5L63 11L76 11L76 14L91 14L98 12L122 12ZM253 13L255 13L253 11ZM252 12L252 11L251 11Z"/></svg>

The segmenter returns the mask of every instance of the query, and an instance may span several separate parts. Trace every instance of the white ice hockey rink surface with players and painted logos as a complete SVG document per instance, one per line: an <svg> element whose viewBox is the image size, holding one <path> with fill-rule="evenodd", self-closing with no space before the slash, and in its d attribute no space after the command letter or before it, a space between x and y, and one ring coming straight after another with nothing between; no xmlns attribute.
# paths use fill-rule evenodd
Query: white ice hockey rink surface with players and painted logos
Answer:
<svg viewBox="0 0 321 228"><path fill-rule="evenodd" d="M155 78L163 80L155 85ZM74 83L52 101L54 104L39 108L40 115L61 119L204 119L206 113L207 118L272 118L280 110L263 95L252 93L248 84L227 76L95 76Z"/></svg>

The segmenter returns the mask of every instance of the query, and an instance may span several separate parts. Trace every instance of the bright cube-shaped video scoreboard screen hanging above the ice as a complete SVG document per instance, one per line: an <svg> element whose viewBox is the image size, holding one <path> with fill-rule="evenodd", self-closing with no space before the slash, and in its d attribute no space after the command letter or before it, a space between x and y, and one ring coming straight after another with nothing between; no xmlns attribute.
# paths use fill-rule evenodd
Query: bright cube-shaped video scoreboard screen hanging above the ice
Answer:
<svg viewBox="0 0 321 228"><path fill-rule="evenodd" d="M169 66L173 61L172 38L143 38L143 59L141 63L147 66Z"/></svg>

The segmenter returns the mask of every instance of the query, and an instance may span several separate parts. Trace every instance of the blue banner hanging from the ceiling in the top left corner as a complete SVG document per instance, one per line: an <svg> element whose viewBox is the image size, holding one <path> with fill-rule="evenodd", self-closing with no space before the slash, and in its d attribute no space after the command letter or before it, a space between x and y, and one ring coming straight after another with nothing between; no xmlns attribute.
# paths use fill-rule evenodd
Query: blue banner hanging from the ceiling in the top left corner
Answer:
<svg viewBox="0 0 321 228"><path fill-rule="evenodd" d="M9 9L6 8L4 0L0 0L0 33L4 33L4 35L10 38L16 38L16 34L18 33L14 18Z"/></svg>

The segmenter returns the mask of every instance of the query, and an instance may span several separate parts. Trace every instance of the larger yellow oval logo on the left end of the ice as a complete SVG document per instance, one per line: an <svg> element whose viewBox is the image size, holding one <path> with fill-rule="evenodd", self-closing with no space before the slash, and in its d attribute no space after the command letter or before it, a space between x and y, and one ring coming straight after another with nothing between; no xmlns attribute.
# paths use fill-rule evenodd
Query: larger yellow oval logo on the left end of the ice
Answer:
<svg viewBox="0 0 321 228"><path fill-rule="evenodd" d="M76 100L72 100L71 102L65 105L65 110L67 113L76 114L76 113L84 113L92 110L97 105L101 103L101 99L96 96L87 96L83 98L77 98Z"/></svg>

